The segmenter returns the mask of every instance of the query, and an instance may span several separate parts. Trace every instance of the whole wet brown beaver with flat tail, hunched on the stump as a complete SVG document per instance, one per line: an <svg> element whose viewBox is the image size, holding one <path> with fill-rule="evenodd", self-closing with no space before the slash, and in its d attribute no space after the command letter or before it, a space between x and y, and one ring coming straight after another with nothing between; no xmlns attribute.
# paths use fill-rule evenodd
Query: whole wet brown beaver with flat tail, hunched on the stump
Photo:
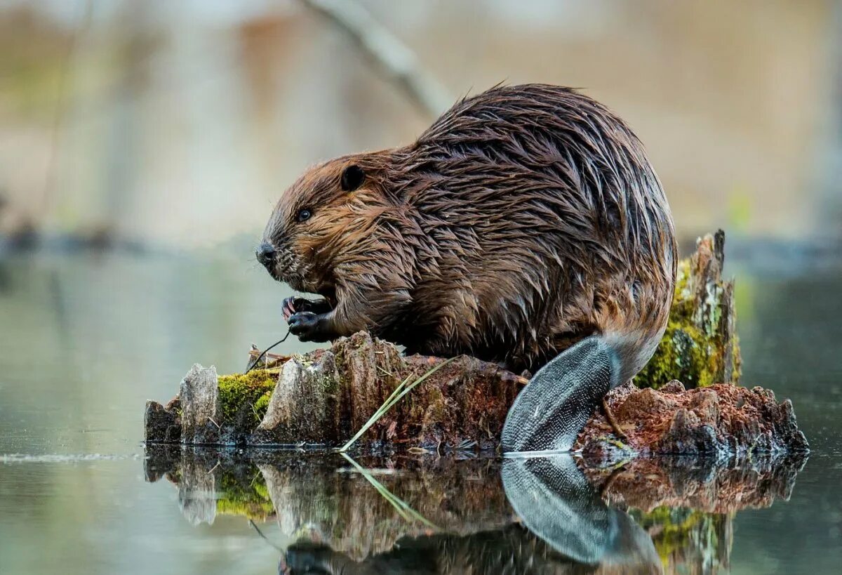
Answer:
<svg viewBox="0 0 842 575"><path fill-rule="evenodd" d="M301 341L369 330L408 353L540 368L504 427L522 451L569 447L579 411L652 357L676 252L626 123L575 89L525 84L461 99L408 146L308 169L256 255L322 296L285 300Z"/></svg>

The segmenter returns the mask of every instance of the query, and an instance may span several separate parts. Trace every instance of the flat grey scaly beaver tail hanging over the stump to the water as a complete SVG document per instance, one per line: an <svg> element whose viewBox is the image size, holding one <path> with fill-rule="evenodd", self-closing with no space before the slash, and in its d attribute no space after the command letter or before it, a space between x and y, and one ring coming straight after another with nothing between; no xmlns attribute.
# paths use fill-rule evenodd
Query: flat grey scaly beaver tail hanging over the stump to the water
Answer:
<svg viewBox="0 0 842 575"><path fill-rule="evenodd" d="M590 336L541 368L509 409L504 452L568 451L594 408L628 369L605 336ZM633 373L632 373L633 375Z"/></svg>

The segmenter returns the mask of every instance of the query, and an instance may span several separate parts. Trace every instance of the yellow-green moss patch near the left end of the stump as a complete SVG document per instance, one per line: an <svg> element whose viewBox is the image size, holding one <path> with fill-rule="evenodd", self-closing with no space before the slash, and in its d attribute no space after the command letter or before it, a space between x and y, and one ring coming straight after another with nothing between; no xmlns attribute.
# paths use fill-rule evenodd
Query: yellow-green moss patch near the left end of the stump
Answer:
<svg viewBox="0 0 842 575"><path fill-rule="evenodd" d="M278 379L275 369L254 369L249 373L234 373L219 377L219 401L226 422L236 422L243 416L260 422L269 406Z"/></svg>

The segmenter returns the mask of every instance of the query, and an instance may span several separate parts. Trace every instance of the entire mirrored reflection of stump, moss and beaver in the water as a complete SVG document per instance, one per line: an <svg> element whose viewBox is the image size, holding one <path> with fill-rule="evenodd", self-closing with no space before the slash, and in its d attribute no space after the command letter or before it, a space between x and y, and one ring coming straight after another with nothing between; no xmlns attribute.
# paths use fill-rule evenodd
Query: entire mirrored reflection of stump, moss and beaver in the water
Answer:
<svg viewBox="0 0 842 575"><path fill-rule="evenodd" d="M659 484L658 464L649 459L639 468L655 486L648 500L633 482L634 493L623 491L621 476L641 476L640 464L605 476L583 473L582 460L570 455L366 457L360 470L337 454L157 446L147 449L146 471L147 481L166 476L179 487L191 523L220 514L276 522L294 541L280 572L650 573L727 567L738 502L769 505L775 493L788 494L802 464L778 463L738 476L735 462L664 463L669 484ZM773 471L781 466L787 471ZM705 501L727 513L684 508L677 495L686 487L691 501L725 485L727 501ZM606 505L609 493L626 503L637 497L637 509Z"/></svg>

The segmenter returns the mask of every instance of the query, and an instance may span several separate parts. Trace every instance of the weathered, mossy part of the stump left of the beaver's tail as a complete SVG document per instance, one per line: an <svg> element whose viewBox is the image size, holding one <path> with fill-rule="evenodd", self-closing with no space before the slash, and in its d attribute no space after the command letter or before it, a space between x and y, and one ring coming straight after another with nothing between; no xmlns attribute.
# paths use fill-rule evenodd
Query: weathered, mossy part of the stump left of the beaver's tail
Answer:
<svg viewBox="0 0 842 575"><path fill-rule="evenodd" d="M347 441L404 380L445 363L404 357L364 331L280 368L216 377L195 365L170 408L147 403L147 443L335 446ZM457 357L392 407L365 443L436 449L494 449L526 379L493 363ZM190 398L190 408L184 407ZM180 436L174 429L181 426Z"/></svg>

